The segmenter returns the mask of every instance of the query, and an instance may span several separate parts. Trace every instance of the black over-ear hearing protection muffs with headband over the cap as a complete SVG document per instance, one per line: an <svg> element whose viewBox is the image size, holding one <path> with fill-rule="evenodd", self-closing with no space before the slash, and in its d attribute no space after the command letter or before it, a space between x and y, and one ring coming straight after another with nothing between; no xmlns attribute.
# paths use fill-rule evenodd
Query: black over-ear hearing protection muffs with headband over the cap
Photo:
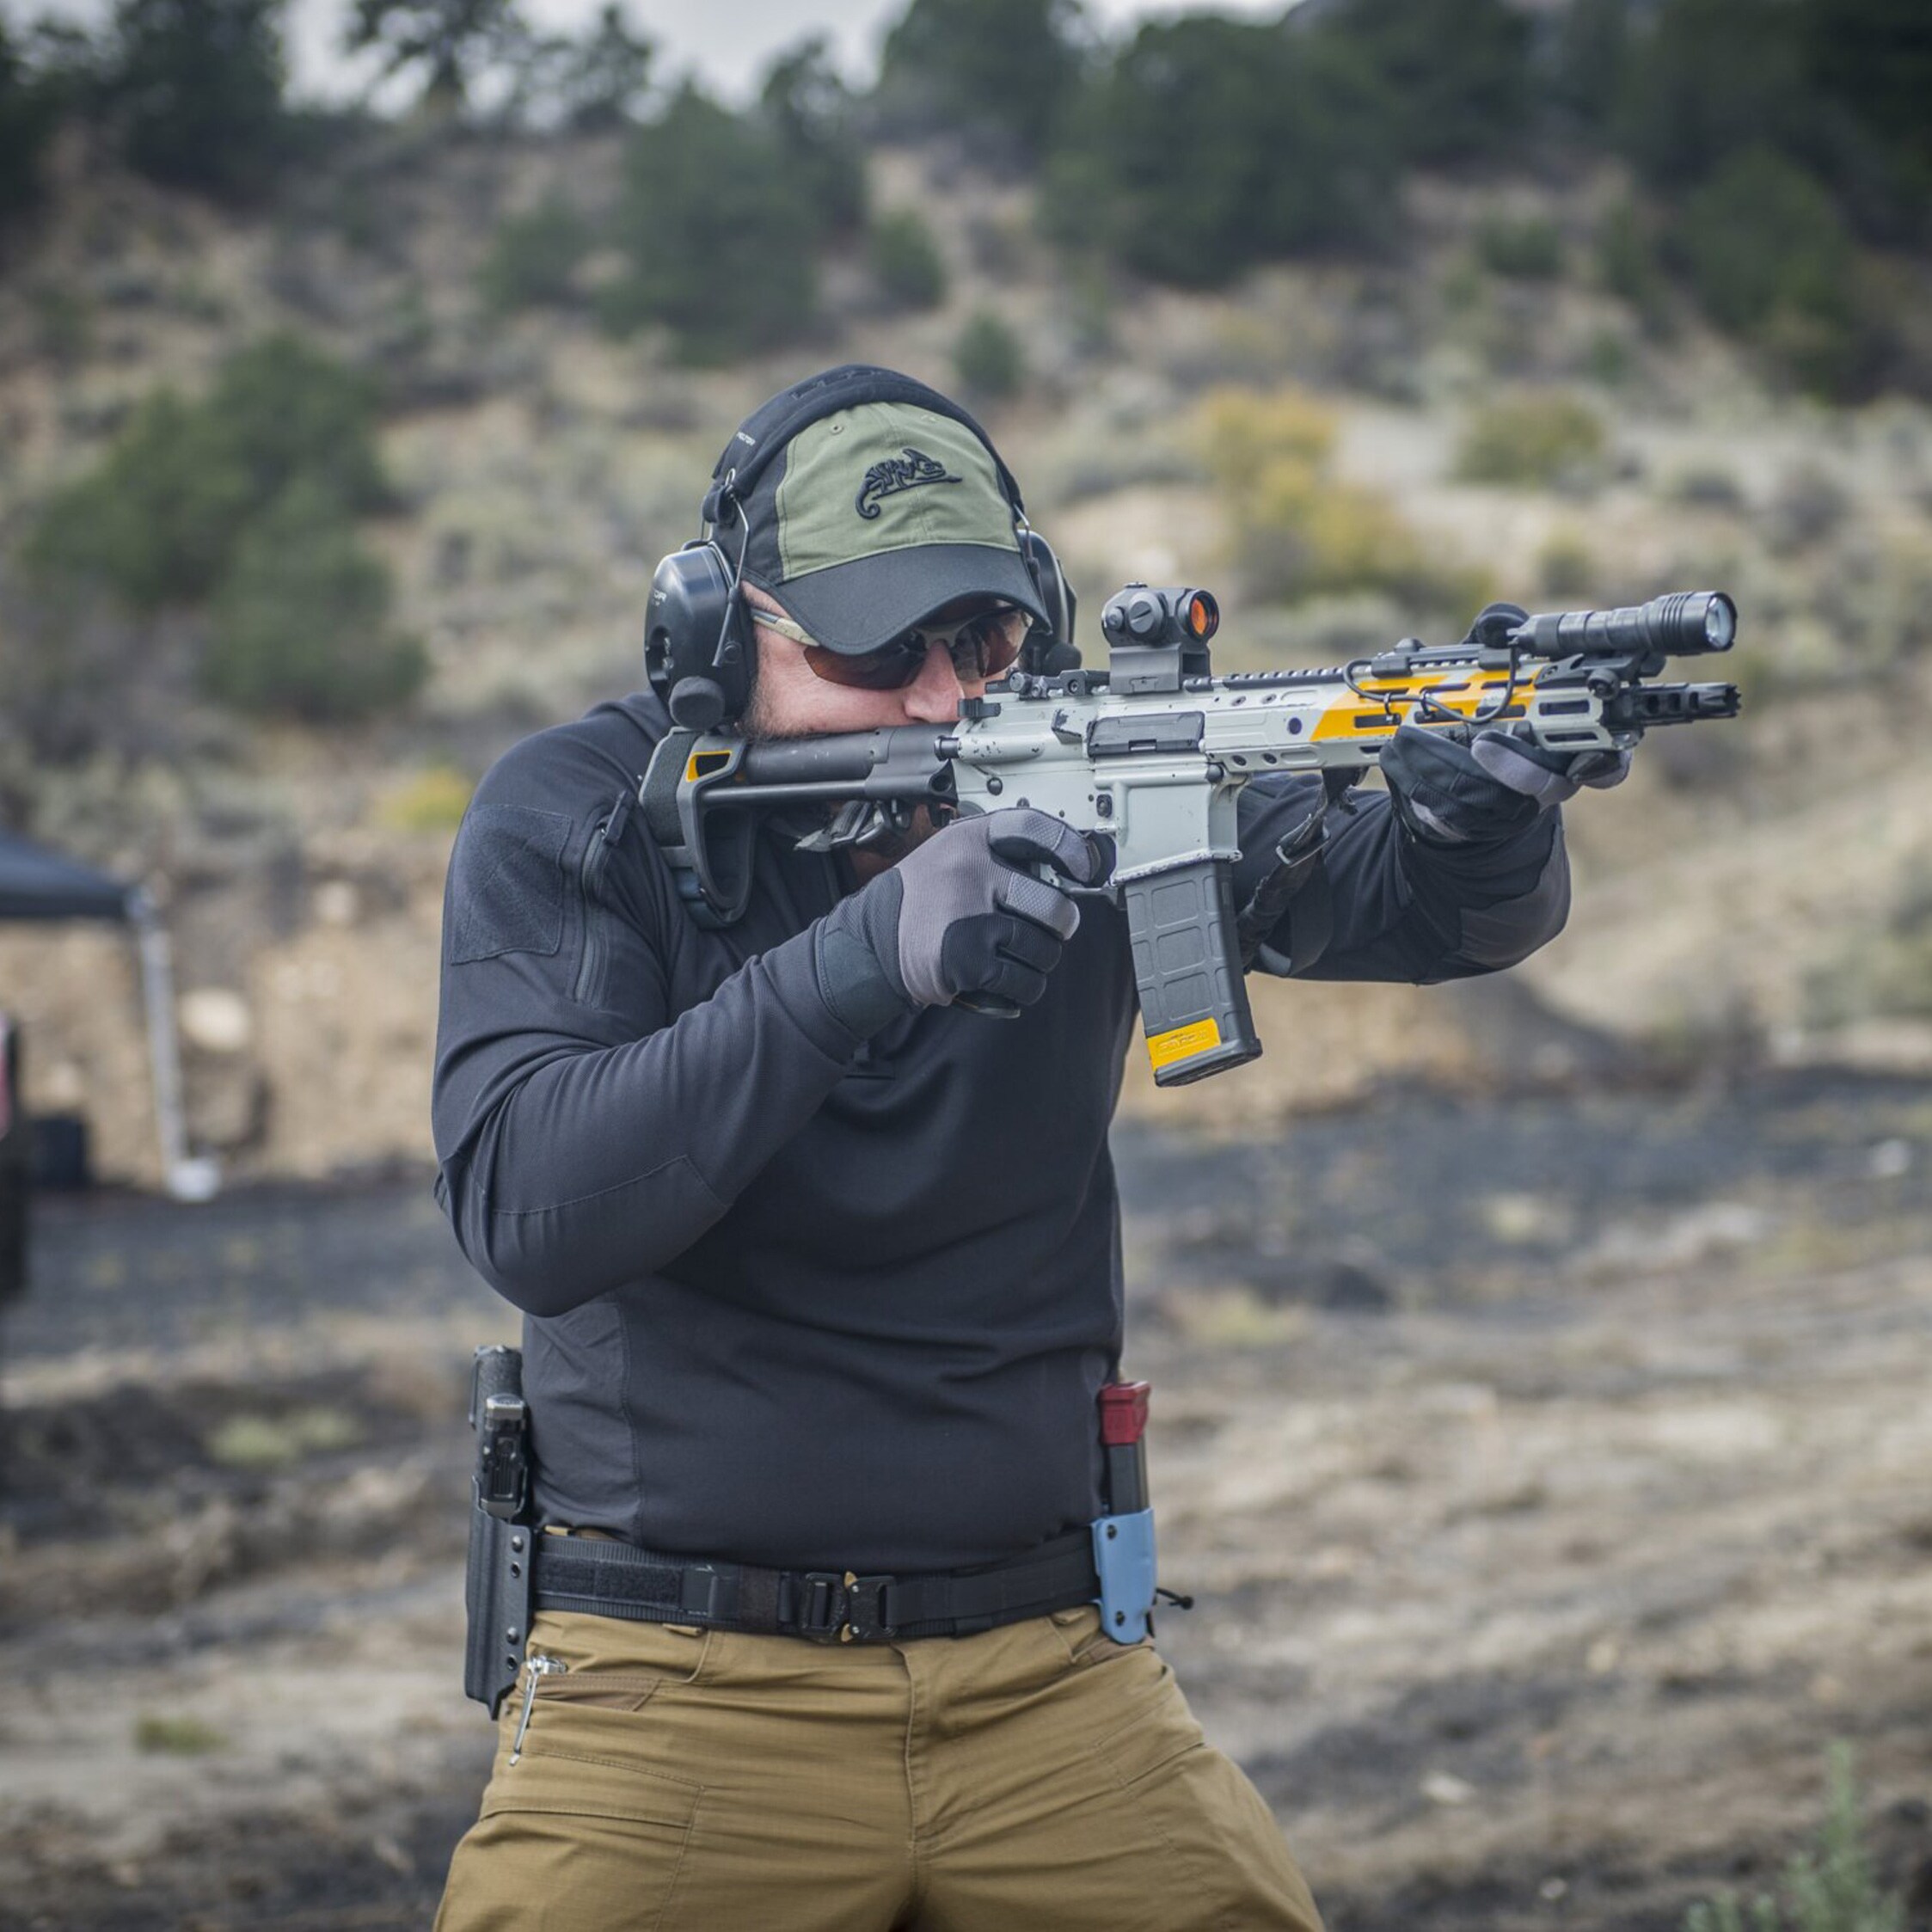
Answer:
<svg viewBox="0 0 1932 1932"><path fill-rule="evenodd" d="M1012 506L1020 553L1051 624L1028 632L1020 668L1028 672L1074 670L1076 599L1053 545L1026 522L1020 485L993 448L993 439L949 396L895 369L846 363L808 377L761 404L732 431L711 471L705 493L705 533L665 556L651 574L651 601L643 620L643 670L665 701L672 723L686 730L717 730L744 717L752 701L752 620L738 595L738 576L750 529L742 498L779 450L798 431L862 402L910 402L947 415L970 429L993 458L999 487ZM736 531L732 526L738 526ZM730 547L736 545L736 558Z"/></svg>

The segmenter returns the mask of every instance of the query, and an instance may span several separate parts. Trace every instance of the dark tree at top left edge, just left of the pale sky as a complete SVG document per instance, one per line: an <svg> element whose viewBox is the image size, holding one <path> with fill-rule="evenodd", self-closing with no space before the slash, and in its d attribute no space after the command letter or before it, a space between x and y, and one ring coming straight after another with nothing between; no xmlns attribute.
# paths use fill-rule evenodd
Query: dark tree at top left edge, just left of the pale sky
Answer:
<svg viewBox="0 0 1932 1932"><path fill-rule="evenodd" d="M120 0L108 100L139 174L257 199L290 155L284 0Z"/></svg>

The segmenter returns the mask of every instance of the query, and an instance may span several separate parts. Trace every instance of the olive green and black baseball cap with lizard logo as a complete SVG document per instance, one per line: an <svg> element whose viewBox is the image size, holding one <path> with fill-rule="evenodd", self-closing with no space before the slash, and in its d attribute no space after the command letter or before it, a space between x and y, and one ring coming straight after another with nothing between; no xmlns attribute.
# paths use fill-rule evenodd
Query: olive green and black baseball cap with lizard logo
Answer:
<svg viewBox="0 0 1932 1932"><path fill-rule="evenodd" d="M893 369L811 377L732 437L705 518L738 574L827 647L877 651L960 597L1049 622L1018 487L958 404Z"/></svg>

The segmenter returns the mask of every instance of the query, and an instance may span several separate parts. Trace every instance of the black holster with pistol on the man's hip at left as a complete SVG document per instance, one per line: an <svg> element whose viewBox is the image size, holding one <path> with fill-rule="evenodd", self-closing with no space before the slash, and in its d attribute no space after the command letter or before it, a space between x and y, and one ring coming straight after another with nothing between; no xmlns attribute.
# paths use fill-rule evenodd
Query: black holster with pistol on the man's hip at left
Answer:
<svg viewBox="0 0 1932 1932"><path fill-rule="evenodd" d="M524 1405L524 1352L477 1349L469 1370L469 1428L477 1432L477 1472L469 1511L469 1567L464 1573L464 1696L495 1718L524 1667L529 1636L531 1540L529 1408Z"/></svg>

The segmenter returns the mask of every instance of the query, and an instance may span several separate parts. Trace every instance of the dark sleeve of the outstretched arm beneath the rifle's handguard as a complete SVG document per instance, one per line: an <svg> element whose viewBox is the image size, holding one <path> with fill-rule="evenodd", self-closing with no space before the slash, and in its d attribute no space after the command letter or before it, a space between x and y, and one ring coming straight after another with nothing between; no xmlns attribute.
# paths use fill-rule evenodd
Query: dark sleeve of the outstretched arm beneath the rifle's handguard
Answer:
<svg viewBox="0 0 1932 1932"><path fill-rule="evenodd" d="M1242 792L1236 906L1320 796L1316 777L1258 779ZM1387 792L1347 792L1327 813L1323 873L1308 895L1325 893L1325 906L1312 896L1291 904L1264 941L1262 970L1434 985L1515 966L1569 918L1569 854L1555 810L1492 844L1430 846L1403 827Z"/></svg>

